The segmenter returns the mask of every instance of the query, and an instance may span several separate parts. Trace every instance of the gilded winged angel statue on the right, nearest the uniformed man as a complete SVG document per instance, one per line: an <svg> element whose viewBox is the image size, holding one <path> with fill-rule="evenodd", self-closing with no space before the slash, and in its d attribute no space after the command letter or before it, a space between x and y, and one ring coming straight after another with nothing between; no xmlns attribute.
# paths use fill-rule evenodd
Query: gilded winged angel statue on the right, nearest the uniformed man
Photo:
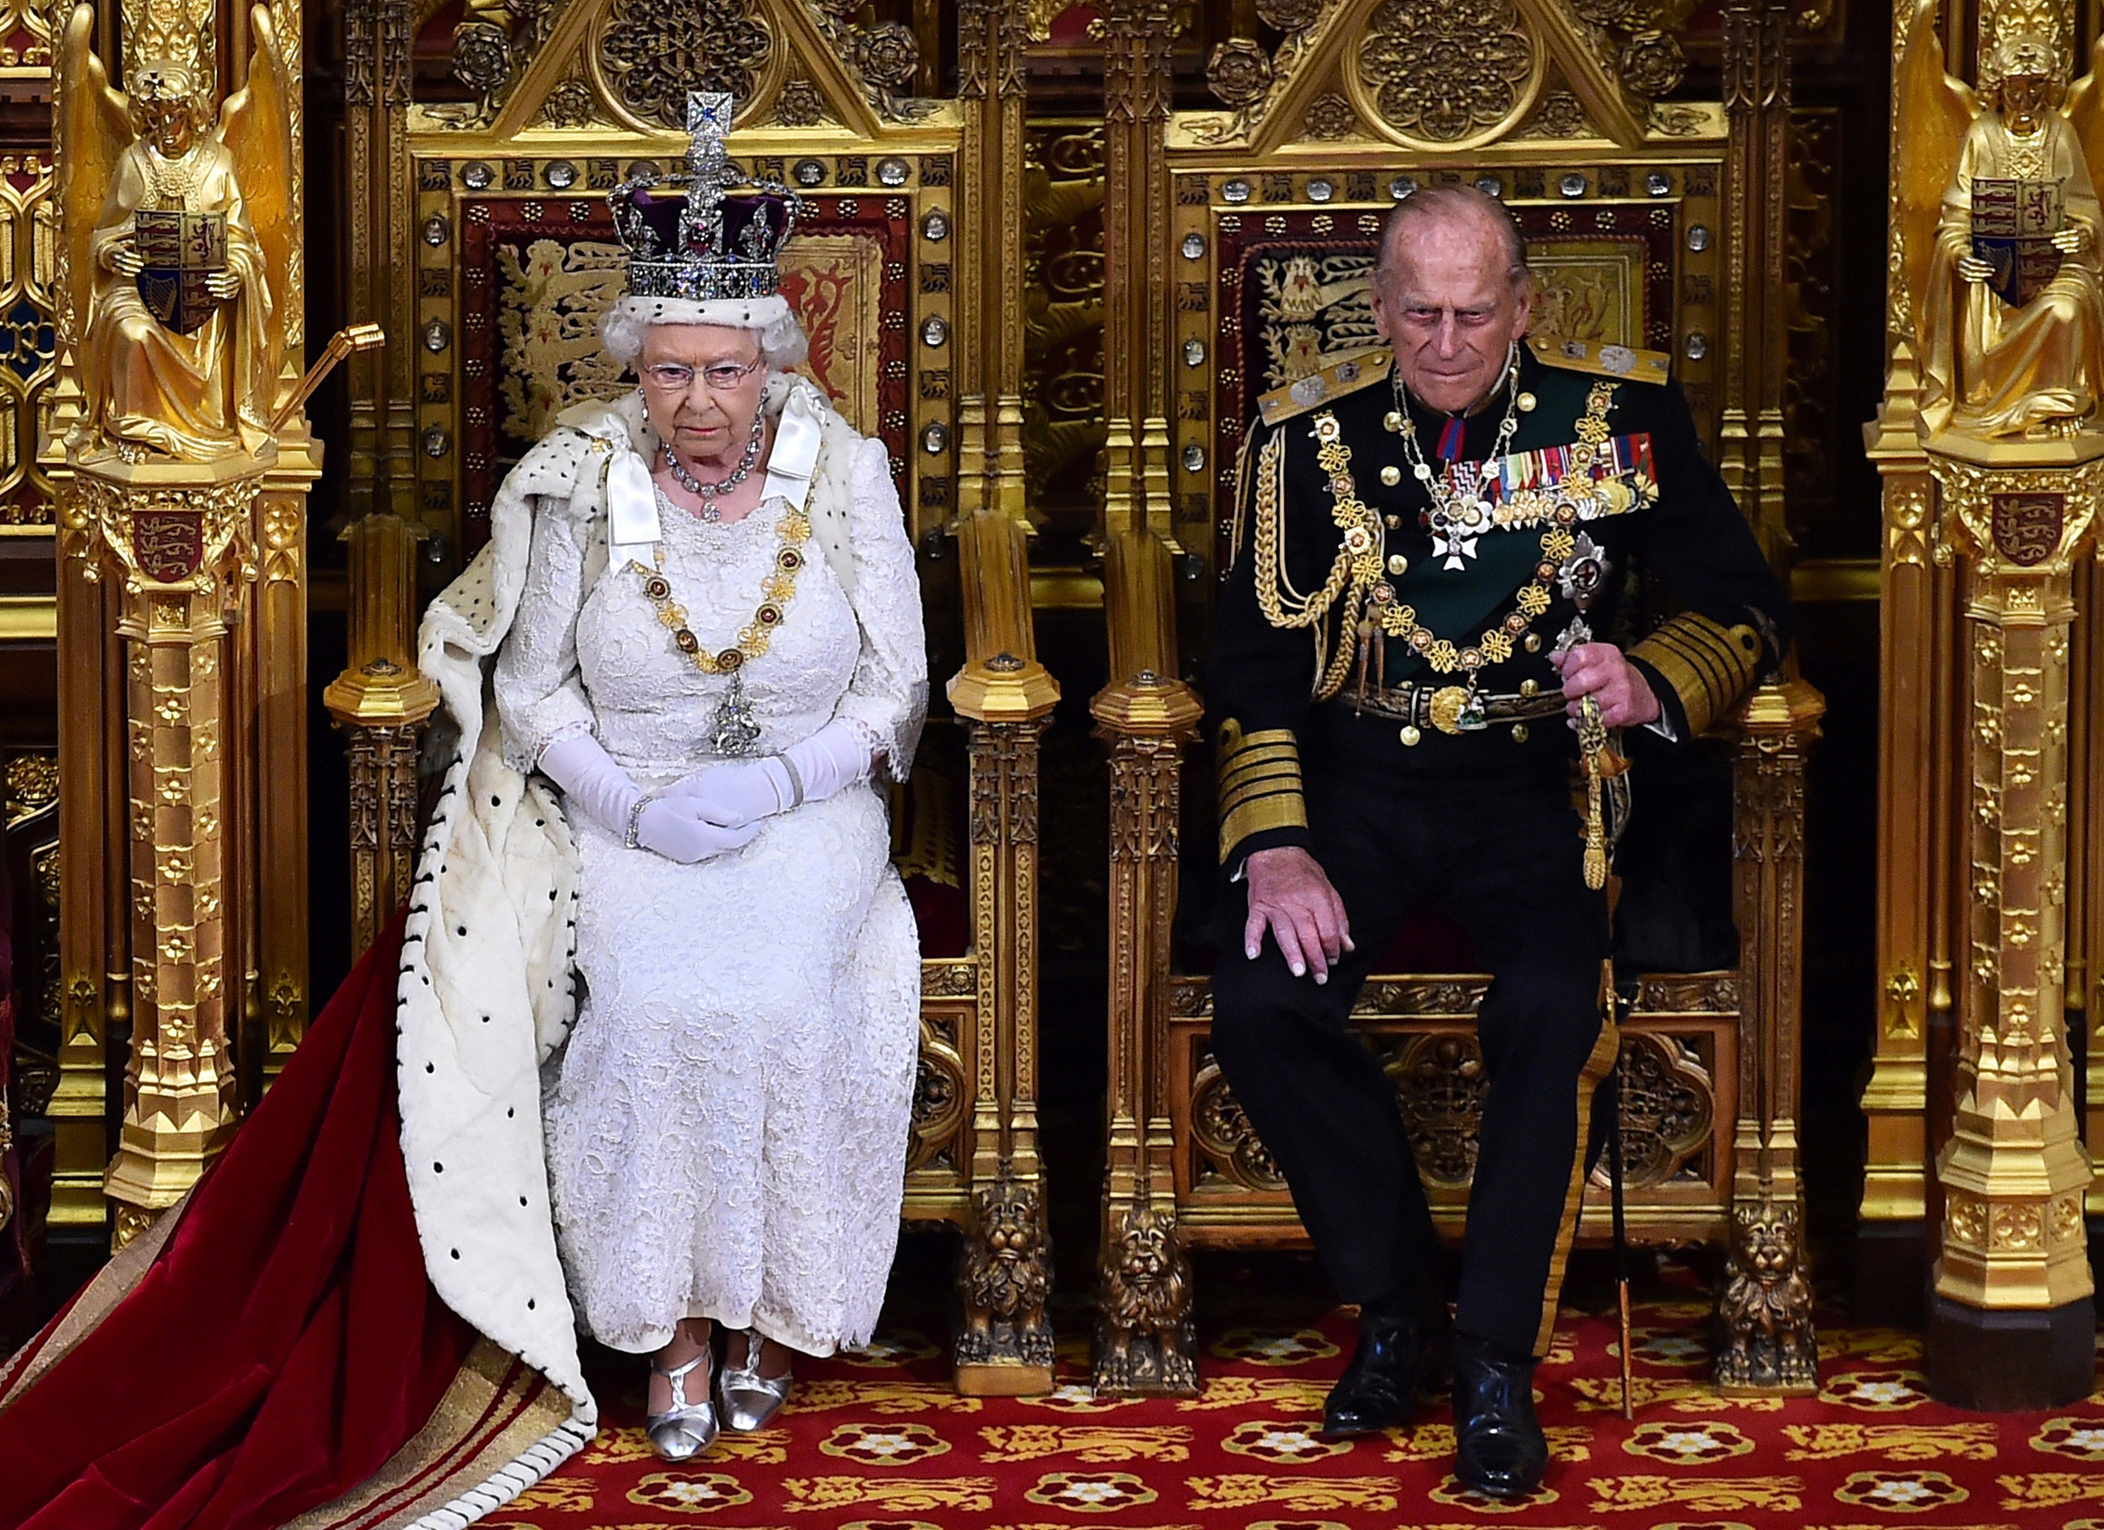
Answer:
<svg viewBox="0 0 2104 1530"><path fill-rule="evenodd" d="M2104 44L2100 44L2104 46ZM1995 40L1978 97L1944 74L1936 0L1915 0L1900 65L1908 297L1927 429L2064 438L2104 400L2104 210L2089 152L2104 86L2068 86L2066 53L2037 32Z"/></svg>

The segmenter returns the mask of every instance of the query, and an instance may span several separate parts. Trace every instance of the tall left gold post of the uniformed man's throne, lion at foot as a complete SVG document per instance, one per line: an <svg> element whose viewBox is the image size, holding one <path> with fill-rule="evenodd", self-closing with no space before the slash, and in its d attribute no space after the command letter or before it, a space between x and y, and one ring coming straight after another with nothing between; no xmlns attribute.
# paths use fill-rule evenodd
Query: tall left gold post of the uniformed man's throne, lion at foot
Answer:
<svg viewBox="0 0 2104 1530"><path fill-rule="evenodd" d="M1185 745L1203 707L1176 676L1168 250L1176 23L1168 0L1111 0L1105 34L1102 585L1111 684L1090 703L1111 745L1109 1139L1096 1387L1193 1393L1191 1269L1176 1223L1168 989Z"/></svg>

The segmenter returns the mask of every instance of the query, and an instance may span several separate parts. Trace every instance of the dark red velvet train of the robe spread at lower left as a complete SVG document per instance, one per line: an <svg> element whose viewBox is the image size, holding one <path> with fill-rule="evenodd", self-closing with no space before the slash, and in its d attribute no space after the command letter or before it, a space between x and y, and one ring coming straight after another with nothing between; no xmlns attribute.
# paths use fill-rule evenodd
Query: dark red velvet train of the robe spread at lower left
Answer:
<svg viewBox="0 0 2104 1530"><path fill-rule="evenodd" d="M0 1412L0 1530L271 1530L431 1416L476 1334L402 1172L400 949L398 915L141 1284Z"/></svg>

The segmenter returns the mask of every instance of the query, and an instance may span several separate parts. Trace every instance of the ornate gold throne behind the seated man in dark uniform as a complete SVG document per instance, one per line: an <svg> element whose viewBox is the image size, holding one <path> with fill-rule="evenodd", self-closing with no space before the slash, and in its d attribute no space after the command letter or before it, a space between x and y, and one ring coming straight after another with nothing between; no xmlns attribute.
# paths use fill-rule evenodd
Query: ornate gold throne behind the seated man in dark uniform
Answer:
<svg viewBox="0 0 2104 1530"><path fill-rule="evenodd" d="M1111 1391L1195 1385L1191 1248L1307 1242L1208 1050L1210 985L1189 937L1191 905L1218 873L1191 682L1227 568L1243 427L1260 394L1378 343L1365 284L1387 210L1420 185L1500 196L1530 244L1536 330L1671 351L1706 448L1763 545L1784 547L1780 311L1763 305L1759 278L1748 284L1748 269L1772 267L1780 234L1763 200L1784 168L1776 105L1753 88L1759 63L1729 103L1668 105L1654 101L1679 78L1668 6L1637 6L1591 40L1536 0L1439 15L1395 0L1260 13L1283 42L1214 51L1208 78L1225 112L1168 109L1166 6L1119 0L1102 13L1111 684L1094 713L1111 749L1113 833L1096 1385ZM1448 78L1454 57L1475 76ZM1142 274L1159 286L1142 290ZM1820 711L1809 686L1772 678L1694 760L1645 751L1635 777L1639 796L1650 774L1654 793L1673 781L1673 796L1708 814L1721 915L1679 941L1671 964L1685 970L1624 970L1628 1225L1643 1244L1729 1248L1717 1366L1727 1387L1814 1385L1795 1035L1803 760ZM1633 848L1624 911L1647 890ZM1464 964L1437 932L1405 934L1357 1006L1450 1235L1483 1101L1473 1012L1488 979ZM1605 1233L1601 1193L1580 1237ZM1778 1299L1784 1322L1763 1328L1761 1303Z"/></svg>

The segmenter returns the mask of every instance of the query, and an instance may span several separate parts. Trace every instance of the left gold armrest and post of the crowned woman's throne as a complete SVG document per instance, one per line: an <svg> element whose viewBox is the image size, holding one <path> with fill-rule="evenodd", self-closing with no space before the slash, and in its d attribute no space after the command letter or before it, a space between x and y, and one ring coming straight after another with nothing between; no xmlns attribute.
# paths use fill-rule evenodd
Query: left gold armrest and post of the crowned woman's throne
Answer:
<svg viewBox="0 0 2104 1530"><path fill-rule="evenodd" d="M353 522L349 663L322 703L351 756L351 958L364 953L408 897L417 867L417 745L438 684L417 669L417 543L398 516Z"/></svg>

